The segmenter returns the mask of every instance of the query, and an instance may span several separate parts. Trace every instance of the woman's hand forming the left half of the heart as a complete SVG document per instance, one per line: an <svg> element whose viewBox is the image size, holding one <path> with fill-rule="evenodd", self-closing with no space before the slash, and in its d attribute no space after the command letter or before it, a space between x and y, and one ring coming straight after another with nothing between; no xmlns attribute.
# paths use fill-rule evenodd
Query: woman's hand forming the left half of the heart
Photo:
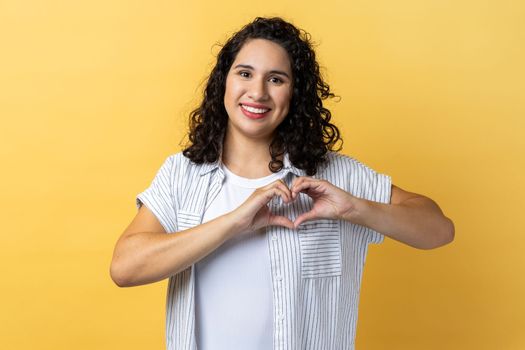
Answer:
<svg viewBox="0 0 525 350"><path fill-rule="evenodd" d="M294 224L289 218L274 215L268 208L268 203L275 196L281 197L284 203L293 200L288 186L283 180L277 180L256 189L243 204L233 210L230 215L239 225L239 231L255 231L266 226L284 226L293 229Z"/></svg>

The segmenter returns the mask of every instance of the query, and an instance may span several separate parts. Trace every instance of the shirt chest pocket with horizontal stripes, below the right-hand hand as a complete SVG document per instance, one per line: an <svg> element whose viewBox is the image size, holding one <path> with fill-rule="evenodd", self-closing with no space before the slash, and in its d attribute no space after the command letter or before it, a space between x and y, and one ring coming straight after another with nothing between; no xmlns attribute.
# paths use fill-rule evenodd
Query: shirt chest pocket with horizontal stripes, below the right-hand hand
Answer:
<svg viewBox="0 0 525 350"><path fill-rule="evenodd" d="M341 276L341 230L338 220L315 220L299 229L303 278Z"/></svg>

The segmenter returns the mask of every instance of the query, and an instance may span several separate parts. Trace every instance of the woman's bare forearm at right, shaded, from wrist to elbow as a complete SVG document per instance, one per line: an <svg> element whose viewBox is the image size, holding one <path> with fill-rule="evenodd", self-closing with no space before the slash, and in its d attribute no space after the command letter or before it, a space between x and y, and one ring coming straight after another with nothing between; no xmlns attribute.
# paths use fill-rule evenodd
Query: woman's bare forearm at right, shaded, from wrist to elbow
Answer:
<svg viewBox="0 0 525 350"><path fill-rule="evenodd" d="M423 196L399 204L354 198L354 210L344 219L369 227L419 249L432 249L454 239L454 224L438 205Z"/></svg>

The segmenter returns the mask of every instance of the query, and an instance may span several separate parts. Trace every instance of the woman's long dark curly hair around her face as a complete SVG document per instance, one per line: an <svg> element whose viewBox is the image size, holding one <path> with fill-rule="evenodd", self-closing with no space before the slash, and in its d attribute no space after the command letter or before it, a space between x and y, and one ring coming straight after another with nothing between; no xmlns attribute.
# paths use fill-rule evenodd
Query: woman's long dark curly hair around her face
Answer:
<svg viewBox="0 0 525 350"><path fill-rule="evenodd" d="M226 77L237 53L250 39L266 39L281 45L288 52L292 66L290 108L270 143L268 167L272 172L281 170L284 164L278 157L288 152L295 167L315 175L318 165L326 161L326 153L341 149L334 149L338 141L342 145L342 139L339 129L330 123L330 111L323 107L323 100L335 95L321 76L310 34L279 17L257 17L222 46L202 103L190 113L189 146L183 154L197 164L218 160L228 125L224 107Z"/></svg>

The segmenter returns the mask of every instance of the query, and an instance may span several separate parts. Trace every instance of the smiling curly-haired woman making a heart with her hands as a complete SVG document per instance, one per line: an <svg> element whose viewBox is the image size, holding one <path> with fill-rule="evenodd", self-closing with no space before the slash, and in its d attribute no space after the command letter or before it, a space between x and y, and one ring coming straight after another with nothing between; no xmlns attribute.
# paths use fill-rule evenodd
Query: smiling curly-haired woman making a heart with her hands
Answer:
<svg viewBox="0 0 525 350"><path fill-rule="evenodd" d="M353 349L367 245L452 241L432 200L333 152L332 96L280 18L221 49L190 145L138 196L111 264L119 286L170 279L168 349Z"/></svg>

